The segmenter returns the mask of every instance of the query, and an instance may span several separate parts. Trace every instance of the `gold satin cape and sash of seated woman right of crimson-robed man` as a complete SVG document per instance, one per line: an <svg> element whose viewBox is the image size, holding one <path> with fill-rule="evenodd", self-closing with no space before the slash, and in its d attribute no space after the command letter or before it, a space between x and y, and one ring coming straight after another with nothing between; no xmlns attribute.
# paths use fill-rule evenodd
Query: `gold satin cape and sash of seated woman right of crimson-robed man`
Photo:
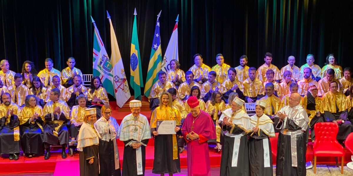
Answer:
<svg viewBox="0 0 353 176"><path fill-rule="evenodd" d="M215 110L215 113L212 115L213 110ZM226 104L224 103L223 100L221 100L221 102L215 103L215 105L212 105L211 100L208 100L206 102L206 112L211 116L212 120L216 123L216 142L218 143L221 142L221 131L222 131L221 126L218 124L219 117L221 116L221 115L218 115L218 112L222 112L224 110L226 110Z"/></svg>

